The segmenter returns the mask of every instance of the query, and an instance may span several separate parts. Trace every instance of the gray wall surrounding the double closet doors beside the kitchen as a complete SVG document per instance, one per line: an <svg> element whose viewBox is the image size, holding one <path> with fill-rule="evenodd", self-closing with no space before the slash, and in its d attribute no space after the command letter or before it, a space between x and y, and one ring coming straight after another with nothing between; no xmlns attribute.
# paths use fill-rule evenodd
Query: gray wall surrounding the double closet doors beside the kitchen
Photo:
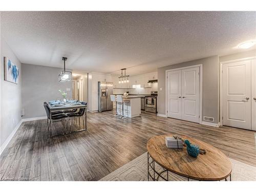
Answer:
<svg viewBox="0 0 256 192"><path fill-rule="evenodd" d="M203 98L202 115L214 117L215 123L219 122L219 57L212 56L193 61L178 63L171 66L158 68L158 98L157 111L165 114L165 71L194 65L203 65ZM160 91L160 88L163 90Z"/></svg>

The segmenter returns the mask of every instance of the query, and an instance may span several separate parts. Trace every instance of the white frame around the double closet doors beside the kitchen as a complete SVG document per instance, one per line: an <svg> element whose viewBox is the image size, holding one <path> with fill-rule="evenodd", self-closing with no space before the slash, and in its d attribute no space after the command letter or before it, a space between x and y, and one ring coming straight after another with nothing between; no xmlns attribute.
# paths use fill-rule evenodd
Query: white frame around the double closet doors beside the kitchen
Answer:
<svg viewBox="0 0 256 192"><path fill-rule="evenodd" d="M189 68L195 68L199 67L199 123L202 124L202 97L203 97L203 64L195 65L195 66L188 66L183 68L176 68L176 69L169 69L165 71L165 116L168 117L168 92L167 92L167 86L168 86L168 72L170 71L177 71L177 70L183 70L183 69L189 69Z"/></svg>

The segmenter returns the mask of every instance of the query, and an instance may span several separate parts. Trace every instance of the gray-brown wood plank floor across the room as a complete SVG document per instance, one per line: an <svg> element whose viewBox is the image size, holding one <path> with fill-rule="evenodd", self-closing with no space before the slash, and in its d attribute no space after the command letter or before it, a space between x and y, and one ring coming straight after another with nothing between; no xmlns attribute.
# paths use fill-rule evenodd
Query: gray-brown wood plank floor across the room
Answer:
<svg viewBox="0 0 256 192"><path fill-rule="evenodd" d="M99 180L146 152L147 140L183 134L208 142L228 157L256 166L253 131L211 127L143 113L118 119L112 112L89 113L88 131L51 139L47 121L24 122L1 155L0 178ZM55 123L56 131L61 125Z"/></svg>

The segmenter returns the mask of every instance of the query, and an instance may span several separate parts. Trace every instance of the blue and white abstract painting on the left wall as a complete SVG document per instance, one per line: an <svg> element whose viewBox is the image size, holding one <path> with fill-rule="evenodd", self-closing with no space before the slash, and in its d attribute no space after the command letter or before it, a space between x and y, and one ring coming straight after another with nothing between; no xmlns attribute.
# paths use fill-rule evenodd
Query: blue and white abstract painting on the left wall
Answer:
<svg viewBox="0 0 256 192"><path fill-rule="evenodd" d="M5 80L18 84L18 80L19 80L18 67L11 61L11 59L7 57L4 57L4 65L5 65Z"/></svg>

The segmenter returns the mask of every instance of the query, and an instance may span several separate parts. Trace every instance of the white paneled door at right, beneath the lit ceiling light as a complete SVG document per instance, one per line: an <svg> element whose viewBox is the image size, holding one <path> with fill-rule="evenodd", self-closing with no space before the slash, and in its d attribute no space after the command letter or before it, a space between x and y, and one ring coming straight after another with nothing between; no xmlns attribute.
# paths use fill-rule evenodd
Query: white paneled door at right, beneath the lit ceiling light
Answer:
<svg viewBox="0 0 256 192"><path fill-rule="evenodd" d="M251 61L223 66L223 124L251 129Z"/></svg>

